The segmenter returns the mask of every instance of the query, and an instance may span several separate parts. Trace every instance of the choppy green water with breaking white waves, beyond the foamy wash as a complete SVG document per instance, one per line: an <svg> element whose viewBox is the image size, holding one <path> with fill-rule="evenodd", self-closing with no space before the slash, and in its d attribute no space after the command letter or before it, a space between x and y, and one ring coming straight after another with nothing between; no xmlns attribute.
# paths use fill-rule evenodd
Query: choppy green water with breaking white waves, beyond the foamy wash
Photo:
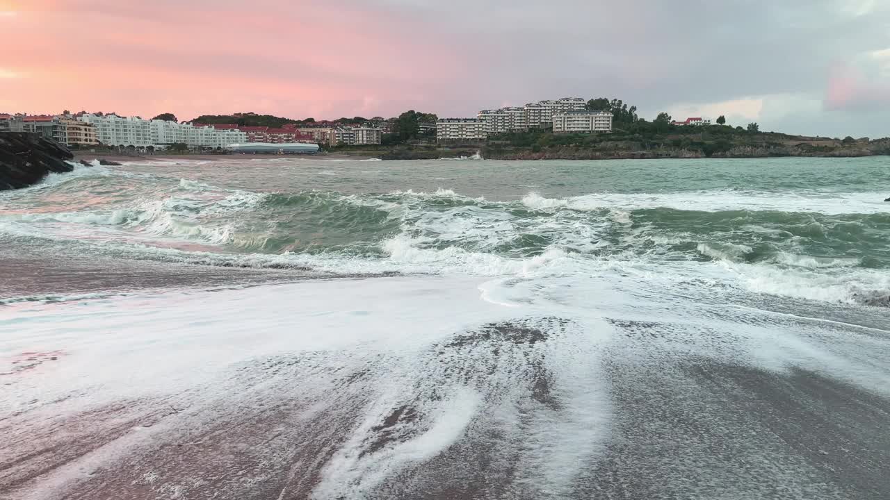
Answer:
<svg viewBox="0 0 890 500"><path fill-rule="evenodd" d="M0 195L0 238L335 274L719 263L756 292L860 302L890 288L888 195L885 157L170 161Z"/></svg>

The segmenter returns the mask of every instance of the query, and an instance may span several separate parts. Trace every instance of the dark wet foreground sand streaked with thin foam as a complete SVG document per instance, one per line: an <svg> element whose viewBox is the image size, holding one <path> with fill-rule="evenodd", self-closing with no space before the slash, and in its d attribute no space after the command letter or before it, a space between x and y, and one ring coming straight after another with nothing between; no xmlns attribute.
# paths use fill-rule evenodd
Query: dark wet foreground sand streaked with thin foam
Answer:
<svg viewBox="0 0 890 500"><path fill-rule="evenodd" d="M322 353L257 360L232 372L239 391L203 404L186 391L68 416L53 411L65 401L12 415L0 420L0 433L9 438L0 459L0 498L355 497L330 493L322 480L330 468L342 467L337 450L352 440L360 443L354 456L360 470L376 471L377 462L388 467L392 447L429 423L422 402L440 398L434 388L455 381L483 395L463 435L436 456L368 483L361 497L890 495L890 399L795 367L771 372L694 356L650 363L621 349L603 358L611 388L604 441L590 441L591 453L570 464L581 472L567 479L567 491L550 490L539 482L539 471L527 468L535 448L547 447L529 441L542 431L529 426L552 422L559 428L572 418L542 351L562 342L571 325L562 319L544 324L548 329L492 324L434 345L425 355L425 363L437 367L433 379L417 384L433 392L406 391L404 404L376 423L363 421L376 380L386 376L368 370L379 360L344 356L328 363ZM486 378L520 361L512 368L514 387ZM500 421L503 405L520 408L520 419ZM562 450L554 451L562 459ZM345 490L349 477L344 470Z"/></svg>

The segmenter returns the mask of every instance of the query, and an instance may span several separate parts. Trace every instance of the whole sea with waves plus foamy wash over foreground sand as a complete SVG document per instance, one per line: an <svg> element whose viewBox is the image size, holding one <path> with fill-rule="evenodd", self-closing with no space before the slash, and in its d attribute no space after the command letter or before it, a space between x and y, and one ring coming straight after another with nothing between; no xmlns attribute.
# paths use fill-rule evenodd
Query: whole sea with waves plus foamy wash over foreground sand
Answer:
<svg viewBox="0 0 890 500"><path fill-rule="evenodd" d="M0 193L0 498L890 497L890 158Z"/></svg>

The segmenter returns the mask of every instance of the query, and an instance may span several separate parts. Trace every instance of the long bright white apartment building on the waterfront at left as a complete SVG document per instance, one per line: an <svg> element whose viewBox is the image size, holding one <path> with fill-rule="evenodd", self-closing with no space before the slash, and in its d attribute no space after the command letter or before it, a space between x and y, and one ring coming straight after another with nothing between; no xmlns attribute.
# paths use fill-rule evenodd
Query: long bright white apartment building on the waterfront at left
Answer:
<svg viewBox="0 0 890 500"><path fill-rule="evenodd" d="M77 119L93 124L96 137L107 146L148 148L178 142L195 148L224 148L229 144L247 142L247 133L237 129L217 130L212 126L196 127L165 120L143 120L140 117L117 115L86 114Z"/></svg>

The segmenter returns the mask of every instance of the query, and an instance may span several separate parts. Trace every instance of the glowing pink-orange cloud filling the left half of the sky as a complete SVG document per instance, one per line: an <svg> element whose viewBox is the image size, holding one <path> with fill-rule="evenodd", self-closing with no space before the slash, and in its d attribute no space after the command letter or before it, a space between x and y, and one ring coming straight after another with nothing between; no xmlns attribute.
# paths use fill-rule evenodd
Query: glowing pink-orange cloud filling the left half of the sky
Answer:
<svg viewBox="0 0 890 500"><path fill-rule="evenodd" d="M439 111L437 75L472 72L423 25L322 2L33 0L0 28L28 40L2 60L27 76L0 80L11 111L392 116Z"/></svg>

